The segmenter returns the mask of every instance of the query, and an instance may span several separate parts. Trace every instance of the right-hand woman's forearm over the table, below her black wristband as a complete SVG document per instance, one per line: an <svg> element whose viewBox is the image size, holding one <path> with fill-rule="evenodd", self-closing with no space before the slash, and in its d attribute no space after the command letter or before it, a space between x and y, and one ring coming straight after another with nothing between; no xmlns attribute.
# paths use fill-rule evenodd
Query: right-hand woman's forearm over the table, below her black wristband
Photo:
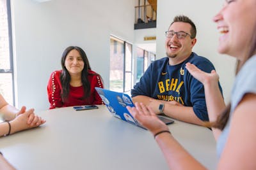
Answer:
<svg viewBox="0 0 256 170"><path fill-rule="evenodd" d="M164 153L170 169L205 169L173 138L172 134L161 133L156 136L156 142Z"/></svg>

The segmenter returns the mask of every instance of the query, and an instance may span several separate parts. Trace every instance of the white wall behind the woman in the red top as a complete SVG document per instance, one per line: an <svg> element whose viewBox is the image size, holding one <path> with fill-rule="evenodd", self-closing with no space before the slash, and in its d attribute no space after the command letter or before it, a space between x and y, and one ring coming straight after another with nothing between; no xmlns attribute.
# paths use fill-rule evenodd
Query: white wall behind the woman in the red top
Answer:
<svg viewBox="0 0 256 170"><path fill-rule="evenodd" d="M109 36L133 42L134 1L12 1L15 82L18 107L49 108L47 81L61 69L63 50L81 46L92 69L109 87Z"/></svg>

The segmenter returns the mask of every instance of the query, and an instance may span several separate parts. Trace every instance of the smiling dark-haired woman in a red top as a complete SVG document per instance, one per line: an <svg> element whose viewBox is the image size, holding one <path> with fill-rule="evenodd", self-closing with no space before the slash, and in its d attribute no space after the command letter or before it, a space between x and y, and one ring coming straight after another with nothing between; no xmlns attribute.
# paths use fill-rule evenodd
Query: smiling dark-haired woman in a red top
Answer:
<svg viewBox="0 0 256 170"><path fill-rule="evenodd" d="M50 109L103 104L95 87L103 88L99 74L91 70L84 50L68 46L61 57L62 70L54 71L47 85Z"/></svg>

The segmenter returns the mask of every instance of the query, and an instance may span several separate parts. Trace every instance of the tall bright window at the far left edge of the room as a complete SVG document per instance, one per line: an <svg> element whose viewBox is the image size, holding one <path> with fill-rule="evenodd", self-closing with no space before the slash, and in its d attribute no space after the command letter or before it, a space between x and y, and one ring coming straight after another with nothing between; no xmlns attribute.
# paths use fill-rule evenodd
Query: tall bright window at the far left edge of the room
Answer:
<svg viewBox="0 0 256 170"><path fill-rule="evenodd" d="M9 104L13 97L13 57L10 0L0 0L0 93Z"/></svg>

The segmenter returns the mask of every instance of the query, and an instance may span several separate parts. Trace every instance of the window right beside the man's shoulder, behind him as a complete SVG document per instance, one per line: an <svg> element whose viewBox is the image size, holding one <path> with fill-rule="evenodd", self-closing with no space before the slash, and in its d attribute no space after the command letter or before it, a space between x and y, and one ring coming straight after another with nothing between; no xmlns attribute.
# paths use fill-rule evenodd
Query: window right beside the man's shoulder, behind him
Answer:
<svg viewBox="0 0 256 170"><path fill-rule="evenodd" d="M147 70L148 66L156 60L156 55L141 48L137 48L137 75L136 82L140 81L141 76Z"/></svg>

